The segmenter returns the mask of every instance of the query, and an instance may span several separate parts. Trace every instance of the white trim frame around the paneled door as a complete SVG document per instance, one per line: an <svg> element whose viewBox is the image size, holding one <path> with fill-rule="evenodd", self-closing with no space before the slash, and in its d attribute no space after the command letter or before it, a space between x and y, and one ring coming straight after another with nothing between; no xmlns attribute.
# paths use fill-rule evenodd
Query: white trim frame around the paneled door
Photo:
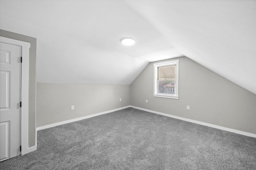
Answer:
<svg viewBox="0 0 256 170"><path fill-rule="evenodd" d="M0 37L0 42L22 47L22 68L21 68L21 154L31 152L28 148L28 70L29 70L29 48L30 43Z"/></svg>

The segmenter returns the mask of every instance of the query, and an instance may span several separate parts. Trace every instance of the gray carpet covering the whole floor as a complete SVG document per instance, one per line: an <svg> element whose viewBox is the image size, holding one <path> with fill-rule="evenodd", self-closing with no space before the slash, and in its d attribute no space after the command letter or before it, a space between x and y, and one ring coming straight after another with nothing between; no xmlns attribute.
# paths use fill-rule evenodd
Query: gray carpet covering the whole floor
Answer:
<svg viewBox="0 0 256 170"><path fill-rule="evenodd" d="M256 169L256 138L127 108L38 131L1 170Z"/></svg>

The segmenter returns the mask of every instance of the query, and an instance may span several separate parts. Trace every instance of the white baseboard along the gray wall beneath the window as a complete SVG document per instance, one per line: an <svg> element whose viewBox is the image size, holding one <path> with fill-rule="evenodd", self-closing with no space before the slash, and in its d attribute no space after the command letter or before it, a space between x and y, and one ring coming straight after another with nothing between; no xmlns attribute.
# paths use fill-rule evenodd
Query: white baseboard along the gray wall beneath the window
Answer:
<svg viewBox="0 0 256 170"><path fill-rule="evenodd" d="M183 117L178 117L178 116L174 116L174 115L169 115L169 114L166 114L166 113L161 113L161 112L153 111L153 110L149 110L149 109L143 109L143 108L136 107L136 106L130 106L130 107L132 107L132 108L134 108L134 109L139 109L139 110L143 110L143 111L148 111L148 112L151 112L151 113L156 113L156 114L158 114L158 115L164 115L164 116L167 116L167 117L172 117L172 118L174 118L174 119L180 119L180 120L188 121L188 122L191 122L191 123L196 123L196 124L199 124L199 125L204 125L204 126L208 126L208 127L213 127L213 128L215 128L215 129L220 129L220 130L229 131L229 132L237 133L237 134L240 134L240 135L245 135L245 136L248 136L248 137L254 137L254 138L256 138L256 134L253 134L253 133L238 131L238 130L230 129L230 128L227 128L227 127L222 127L222 126L218 126L218 125L212 125L212 124L210 124L210 123L204 123L204 122L201 122L201 121L196 121L196 120L192 120L192 119L186 119L186 118L183 118Z"/></svg>

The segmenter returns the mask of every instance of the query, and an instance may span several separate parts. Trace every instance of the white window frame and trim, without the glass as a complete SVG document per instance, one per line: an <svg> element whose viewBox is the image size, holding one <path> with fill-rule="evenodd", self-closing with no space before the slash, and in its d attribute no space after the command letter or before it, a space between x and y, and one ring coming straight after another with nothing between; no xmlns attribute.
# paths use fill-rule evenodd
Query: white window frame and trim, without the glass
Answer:
<svg viewBox="0 0 256 170"><path fill-rule="evenodd" d="M179 99L179 62L180 60L166 61L154 64L154 97L159 98L170 98ZM176 65L176 83L175 83L175 93L174 94L161 94L158 93L157 79L158 79L158 67Z"/></svg>

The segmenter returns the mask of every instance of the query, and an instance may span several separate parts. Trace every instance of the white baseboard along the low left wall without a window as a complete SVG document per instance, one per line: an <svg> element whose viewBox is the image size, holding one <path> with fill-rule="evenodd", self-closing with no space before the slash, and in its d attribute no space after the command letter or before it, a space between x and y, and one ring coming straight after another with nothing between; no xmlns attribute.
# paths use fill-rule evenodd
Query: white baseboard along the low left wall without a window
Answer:
<svg viewBox="0 0 256 170"><path fill-rule="evenodd" d="M106 114L106 113L111 113L113 111L118 111L118 110L126 109L128 107L131 107L131 106L120 107L118 109L113 109L113 110L109 110L109 111L103 111L103 112L100 112L100 113L96 113L96 114L92 114L92 115L88 115L88 116L84 116L84 117L79 117L79 118L76 118L76 119L70 119L70 120L67 120L67 121L61 121L61 122L58 122L58 123L53 123L53 124L50 124L50 125L45 125L45 126L37 127L36 131L39 131L39 130L42 130L42 129L47 129L47 128L50 128L50 127L55 127L55 126L58 126L58 125L63 125L63 124L66 124L66 123L71 123L71 122L74 122L74 121L88 119L90 117L94 117L94 116L98 116L98 115L103 115L103 114Z"/></svg>

